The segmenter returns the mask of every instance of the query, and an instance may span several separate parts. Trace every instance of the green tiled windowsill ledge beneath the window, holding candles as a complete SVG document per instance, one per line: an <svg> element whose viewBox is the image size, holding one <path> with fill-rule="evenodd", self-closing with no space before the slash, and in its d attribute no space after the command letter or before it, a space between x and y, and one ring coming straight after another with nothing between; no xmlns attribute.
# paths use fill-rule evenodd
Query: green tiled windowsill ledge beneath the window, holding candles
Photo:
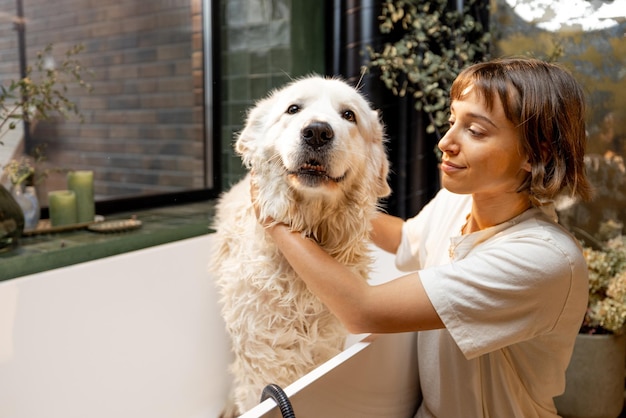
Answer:
<svg viewBox="0 0 626 418"><path fill-rule="evenodd" d="M24 236L16 250L0 254L0 281L208 234L213 210L213 201L204 201L106 217L141 221L140 228L126 232Z"/></svg>

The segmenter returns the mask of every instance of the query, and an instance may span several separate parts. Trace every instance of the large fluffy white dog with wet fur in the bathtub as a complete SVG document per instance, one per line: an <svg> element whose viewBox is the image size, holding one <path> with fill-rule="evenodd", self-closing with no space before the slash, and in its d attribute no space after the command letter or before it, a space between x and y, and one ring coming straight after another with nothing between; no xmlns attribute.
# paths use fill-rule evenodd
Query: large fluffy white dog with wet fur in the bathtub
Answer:
<svg viewBox="0 0 626 418"><path fill-rule="evenodd" d="M248 113L235 149L255 173L261 217L314 239L369 275L370 220L390 193L378 113L348 84L312 76L272 92ZM210 268L235 355L234 402L258 404L339 353L346 330L307 289L257 222L249 176L216 209Z"/></svg>

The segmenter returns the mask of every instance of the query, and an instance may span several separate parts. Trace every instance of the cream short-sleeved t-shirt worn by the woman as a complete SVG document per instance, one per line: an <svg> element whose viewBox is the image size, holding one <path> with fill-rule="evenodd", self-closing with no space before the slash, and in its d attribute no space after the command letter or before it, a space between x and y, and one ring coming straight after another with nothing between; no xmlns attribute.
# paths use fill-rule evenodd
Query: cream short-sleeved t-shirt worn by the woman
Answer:
<svg viewBox="0 0 626 418"><path fill-rule="evenodd" d="M444 329L418 336L417 417L556 417L553 397L587 306L587 267L552 205L461 236L471 196L442 190L407 220L396 255Z"/></svg>

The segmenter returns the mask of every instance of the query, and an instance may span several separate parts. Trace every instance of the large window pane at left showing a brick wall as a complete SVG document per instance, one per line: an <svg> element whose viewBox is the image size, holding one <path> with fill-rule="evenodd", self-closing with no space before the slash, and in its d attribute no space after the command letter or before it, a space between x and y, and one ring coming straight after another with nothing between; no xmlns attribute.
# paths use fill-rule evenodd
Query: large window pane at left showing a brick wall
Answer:
<svg viewBox="0 0 626 418"><path fill-rule="evenodd" d="M91 72L84 80L93 86L90 93L75 85L67 91L83 123L39 121L27 141L19 136L0 146L2 165L43 146L42 167L49 175L38 194L44 206L47 191L66 188L65 171L71 169L94 171L97 201L213 187L212 103L205 91L211 36L210 19L203 16L210 7L202 0L17 4L0 0L0 81L6 85L19 76L20 52L32 65L37 52L52 44L47 60L58 65L65 51L81 44L76 58ZM13 25L20 5L23 45L19 25Z"/></svg>

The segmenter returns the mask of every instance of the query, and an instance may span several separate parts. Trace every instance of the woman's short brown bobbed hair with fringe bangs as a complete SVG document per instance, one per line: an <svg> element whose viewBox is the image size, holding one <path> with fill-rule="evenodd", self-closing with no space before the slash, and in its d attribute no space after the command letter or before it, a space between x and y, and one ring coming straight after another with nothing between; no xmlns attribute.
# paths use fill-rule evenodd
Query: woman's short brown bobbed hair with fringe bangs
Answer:
<svg viewBox="0 0 626 418"><path fill-rule="evenodd" d="M452 84L450 99L461 99L469 86L489 110L497 95L507 119L519 130L532 167L519 191L528 190L535 203L563 193L591 199L584 163L585 96L571 73L532 58L496 59L463 70Z"/></svg>

